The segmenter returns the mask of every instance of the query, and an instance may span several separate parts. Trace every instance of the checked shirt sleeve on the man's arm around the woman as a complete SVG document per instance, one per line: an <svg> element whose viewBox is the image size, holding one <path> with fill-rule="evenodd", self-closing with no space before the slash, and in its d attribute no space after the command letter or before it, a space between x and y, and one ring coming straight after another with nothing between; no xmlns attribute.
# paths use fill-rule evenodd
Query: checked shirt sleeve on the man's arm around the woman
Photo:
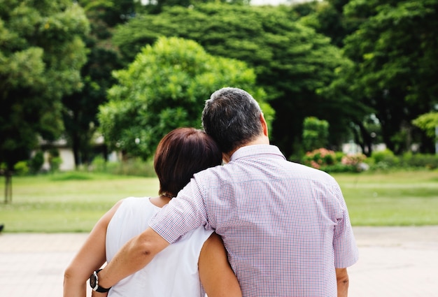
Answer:
<svg viewBox="0 0 438 297"><path fill-rule="evenodd" d="M169 243L176 242L185 233L207 224L202 191L192 179L162 210L152 217L149 226Z"/></svg>

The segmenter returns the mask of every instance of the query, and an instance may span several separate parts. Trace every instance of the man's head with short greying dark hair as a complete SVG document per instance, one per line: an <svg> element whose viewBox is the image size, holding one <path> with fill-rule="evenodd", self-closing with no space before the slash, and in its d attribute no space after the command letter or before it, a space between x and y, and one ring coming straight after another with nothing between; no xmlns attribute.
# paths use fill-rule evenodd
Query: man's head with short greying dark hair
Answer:
<svg viewBox="0 0 438 297"><path fill-rule="evenodd" d="M202 126L216 140L220 150L229 153L262 135L261 115L260 106L248 92L225 87L206 101Z"/></svg>

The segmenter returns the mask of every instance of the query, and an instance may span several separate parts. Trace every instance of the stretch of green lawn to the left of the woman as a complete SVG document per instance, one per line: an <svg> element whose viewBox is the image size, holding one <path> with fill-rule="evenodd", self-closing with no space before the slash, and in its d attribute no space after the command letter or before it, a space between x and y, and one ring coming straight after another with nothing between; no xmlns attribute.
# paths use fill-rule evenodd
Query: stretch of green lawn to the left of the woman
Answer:
<svg viewBox="0 0 438 297"><path fill-rule="evenodd" d="M87 232L121 198L155 196L157 191L156 178L91 173L14 177L13 202L0 203L0 224L6 232Z"/></svg>

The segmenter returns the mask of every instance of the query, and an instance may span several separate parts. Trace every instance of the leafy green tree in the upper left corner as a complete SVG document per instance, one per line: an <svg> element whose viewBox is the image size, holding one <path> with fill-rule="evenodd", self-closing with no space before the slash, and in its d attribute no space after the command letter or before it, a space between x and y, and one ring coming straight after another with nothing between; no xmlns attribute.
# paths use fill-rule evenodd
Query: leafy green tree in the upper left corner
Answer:
<svg viewBox="0 0 438 297"><path fill-rule="evenodd" d="M60 136L62 96L82 87L81 36L88 29L82 8L68 0L1 1L0 163L6 164L6 187L14 164L29 159L38 136Z"/></svg>

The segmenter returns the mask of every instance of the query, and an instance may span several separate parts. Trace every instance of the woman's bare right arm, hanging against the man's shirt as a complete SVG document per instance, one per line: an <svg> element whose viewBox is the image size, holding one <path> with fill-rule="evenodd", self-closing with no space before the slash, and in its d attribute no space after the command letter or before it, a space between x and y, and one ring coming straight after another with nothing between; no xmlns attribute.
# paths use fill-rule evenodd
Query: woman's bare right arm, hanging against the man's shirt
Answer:
<svg viewBox="0 0 438 297"><path fill-rule="evenodd" d="M241 297L242 291L228 263L222 238L212 233L204 242L198 262L199 278L209 297Z"/></svg>

